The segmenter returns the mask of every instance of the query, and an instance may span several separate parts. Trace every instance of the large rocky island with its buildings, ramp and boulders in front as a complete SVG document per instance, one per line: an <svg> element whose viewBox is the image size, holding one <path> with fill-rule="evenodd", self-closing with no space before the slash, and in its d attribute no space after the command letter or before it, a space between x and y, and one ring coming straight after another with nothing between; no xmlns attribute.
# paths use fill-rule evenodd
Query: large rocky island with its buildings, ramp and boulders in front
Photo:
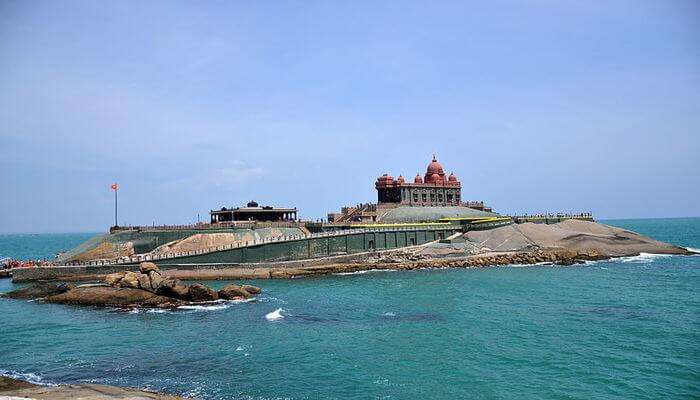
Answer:
<svg viewBox="0 0 700 400"><path fill-rule="evenodd" d="M463 201L462 184L433 157L412 182L384 174L377 203L343 207L328 222L297 220L296 207L212 210L210 223L120 227L57 260L12 269L15 282L102 280L107 286L53 294L48 301L173 306L217 294L177 279L289 278L362 269L570 265L640 253L692 254L595 222L590 213L507 216ZM116 222L116 221L115 221ZM145 262L145 264L144 264ZM144 267L144 265L148 267ZM160 268L160 270L154 268ZM118 272L117 271L121 271ZM162 272L161 272L162 271ZM109 288L119 288L114 290ZM186 292L186 294L185 294Z"/></svg>

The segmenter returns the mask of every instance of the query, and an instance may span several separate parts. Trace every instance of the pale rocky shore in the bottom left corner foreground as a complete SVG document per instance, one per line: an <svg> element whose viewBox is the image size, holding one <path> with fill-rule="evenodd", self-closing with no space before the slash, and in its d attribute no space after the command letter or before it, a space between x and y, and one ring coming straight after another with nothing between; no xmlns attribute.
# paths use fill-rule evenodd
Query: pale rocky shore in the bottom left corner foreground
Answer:
<svg viewBox="0 0 700 400"><path fill-rule="evenodd" d="M37 385L31 382L0 375L0 399L37 400L185 400L186 397L172 396L136 388L122 388L109 385Z"/></svg>

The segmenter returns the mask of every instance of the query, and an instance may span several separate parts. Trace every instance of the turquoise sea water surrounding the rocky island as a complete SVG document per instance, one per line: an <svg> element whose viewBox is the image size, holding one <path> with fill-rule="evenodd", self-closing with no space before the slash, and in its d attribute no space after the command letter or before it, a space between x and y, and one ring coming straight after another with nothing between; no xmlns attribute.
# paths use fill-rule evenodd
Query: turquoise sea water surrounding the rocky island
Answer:
<svg viewBox="0 0 700 400"><path fill-rule="evenodd" d="M603 222L700 248L699 218ZM90 236L0 235L0 258ZM700 398L700 256L247 283L263 294L172 311L0 299L0 374L200 399Z"/></svg>

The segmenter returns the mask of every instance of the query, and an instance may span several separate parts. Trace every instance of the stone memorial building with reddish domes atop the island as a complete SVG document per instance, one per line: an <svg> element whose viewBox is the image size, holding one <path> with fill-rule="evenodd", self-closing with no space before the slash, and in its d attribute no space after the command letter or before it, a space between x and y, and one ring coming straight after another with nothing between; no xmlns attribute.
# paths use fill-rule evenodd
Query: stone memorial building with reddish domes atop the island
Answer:
<svg viewBox="0 0 700 400"><path fill-rule="evenodd" d="M395 203L413 206L458 206L462 202L462 184L454 173L449 176L435 156L428 164L425 175L416 175L406 182L402 175L394 179L389 174L377 178L379 204Z"/></svg>

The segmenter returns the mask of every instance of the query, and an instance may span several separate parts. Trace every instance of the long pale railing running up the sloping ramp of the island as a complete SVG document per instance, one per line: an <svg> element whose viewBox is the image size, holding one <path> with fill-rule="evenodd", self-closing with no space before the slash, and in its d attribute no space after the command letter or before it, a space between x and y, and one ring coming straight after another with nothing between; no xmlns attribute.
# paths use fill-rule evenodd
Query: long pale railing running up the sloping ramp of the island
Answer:
<svg viewBox="0 0 700 400"><path fill-rule="evenodd" d="M136 254L133 256L129 257L119 257L115 259L102 259L102 260L92 260L92 261L73 261L73 262L67 262L64 263L63 265L66 266L98 266L98 265L113 265L113 264L133 264L133 263L139 263L143 261L156 261L156 260L163 260L163 259L171 259L171 258L178 258L178 257L187 257L187 256L195 256L195 255L200 255L200 254L207 254L207 253L214 253L217 251L226 251L226 250L232 250L236 248L241 248L241 247L251 247L251 246L257 246L261 244L266 244L266 243L279 243L279 242L289 242L289 241L294 241L294 240L305 240L305 239L315 239L315 238L324 238L324 237L333 237L333 236L345 236L345 235L353 235L353 234L358 234L358 233L367 233L367 232L396 232L396 231L415 231L415 230L444 230L445 228L452 227L454 228L453 225L451 224L426 224L426 225L421 225L421 226L398 226L398 227L387 227L387 228L360 228L360 229L348 229L348 230L343 230L343 231L329 231L329 232L319 232L319 233L310 233L310 234L300 234L300 235L283 235L283 236L275 236L275 237L268 237L268 238L260 238L260 239L254 239L254 240L246 240L245 242L240 241L240 242L234 242L234 243L229 243L226 245L220 245L220 246L214 246L214 247L209 247L206 249L200 249L200 250L190 250L190 251L180 251L180 252L171 252L171 253L163 253L163 254Z"/></svg>

